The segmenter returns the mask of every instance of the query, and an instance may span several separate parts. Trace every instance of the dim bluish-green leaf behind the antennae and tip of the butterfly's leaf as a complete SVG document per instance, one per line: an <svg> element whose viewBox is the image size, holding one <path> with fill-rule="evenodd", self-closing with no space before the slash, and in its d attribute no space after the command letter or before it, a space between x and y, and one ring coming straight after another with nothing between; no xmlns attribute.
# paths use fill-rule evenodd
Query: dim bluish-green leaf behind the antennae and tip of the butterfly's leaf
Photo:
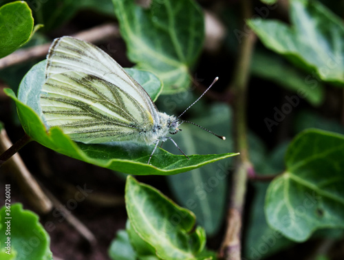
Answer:
<svg viewBox="0 0 344 260"><path fill-rule="evenodd" d="M199 127L184 123L180 126L182 134L173 136L173 140L181 144L184 153L223 153L233 149L233 141L230 138L231 113L228 106L214 105L208 108L202 118L191 121L227 138L219 140ZM166 143L164 146L173 149L173 144ZM214 235L222 226L230 165L231 160L226 159L188 173L168 176L169 186L178 203L195 213L198 223L204 227L207 235Z"/></svg>

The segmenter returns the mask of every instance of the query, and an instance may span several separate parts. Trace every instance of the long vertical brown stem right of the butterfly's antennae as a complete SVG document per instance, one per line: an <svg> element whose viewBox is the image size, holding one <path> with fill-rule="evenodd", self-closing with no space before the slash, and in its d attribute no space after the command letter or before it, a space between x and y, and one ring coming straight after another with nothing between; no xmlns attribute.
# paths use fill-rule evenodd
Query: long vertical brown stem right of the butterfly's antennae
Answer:
<svg viewBox="0 0 344 260"><path fill-rule="evenodd" d="M252 17L250 0L241 1L242 19ZM227 228L224 241L219 251L219 257L230 260L241 259L241 225L246 195L246 182L248 172L252 164L248 159L248 140L246 126L246 92L250 73L250 59L255 45L255 35L248 32L242 39L240 52L236 65L233 82L229 89L233 89L235 95L234 126L235 147L240 153L237 157L235 171L233 173L233 185L230 190L230 202L227 213Z"/></svg>

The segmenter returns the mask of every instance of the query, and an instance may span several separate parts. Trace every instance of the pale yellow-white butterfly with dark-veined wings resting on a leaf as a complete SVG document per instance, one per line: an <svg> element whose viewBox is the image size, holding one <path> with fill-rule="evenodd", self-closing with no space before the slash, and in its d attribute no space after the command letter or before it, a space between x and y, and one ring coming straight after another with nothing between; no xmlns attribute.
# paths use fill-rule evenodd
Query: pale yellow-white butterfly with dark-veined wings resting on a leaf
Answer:
<svg viewBox="0 0 344 260"><path fill-rule="evenodd" d="M188 158L168 134L178 133L180 124L189 122L179 118L195 102L178 117L158 111L140 84L92 43L70 36L54 40L40 102L47 125L60 127L76 142L155 144L149 164L160 141L171 140Z"/></svg>

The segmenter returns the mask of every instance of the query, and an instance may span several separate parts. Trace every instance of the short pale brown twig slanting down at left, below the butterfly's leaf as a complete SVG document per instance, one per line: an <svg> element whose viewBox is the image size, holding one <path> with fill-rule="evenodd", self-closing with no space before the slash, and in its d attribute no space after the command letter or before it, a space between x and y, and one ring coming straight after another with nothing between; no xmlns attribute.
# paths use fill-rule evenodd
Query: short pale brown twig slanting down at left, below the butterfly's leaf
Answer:
<svg viewBox="0 0 344 260"><path fill-rule="evenodd" d="M20 141L27 140L28 138L22 138ZM17 143L16 143L17 144ZM15 145L15 144L14 144ZM12 146L12 142L7 136L5 129L0 131L0 153L1 151L6 151L9 147ZM8 150L7 150L8 151ZM41 187L36 182L34 177L32 177L30 171L26 168L23 160L18 153L14 154L12 158L10 158L6 164L9 169L12 170L12 173L17 178L17 182L19 186L21 186L22 191L25 193L25 197L27 197L30 203L39 211L39 213L47 214L52 210L52 202L50 199L45 196Z"/></svg>

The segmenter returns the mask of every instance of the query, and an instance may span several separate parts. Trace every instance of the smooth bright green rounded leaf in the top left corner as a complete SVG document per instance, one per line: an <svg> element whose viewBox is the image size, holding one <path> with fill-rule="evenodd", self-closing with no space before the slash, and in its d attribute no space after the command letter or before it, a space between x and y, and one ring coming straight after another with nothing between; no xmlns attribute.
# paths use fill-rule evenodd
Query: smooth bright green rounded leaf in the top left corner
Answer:
<svg viewBox="0 0 344 260"><path fill-rule="evenodd" d="M32 34L34 19L28 3L15 1L0 8L0 58L17 50Z"/></svg>

